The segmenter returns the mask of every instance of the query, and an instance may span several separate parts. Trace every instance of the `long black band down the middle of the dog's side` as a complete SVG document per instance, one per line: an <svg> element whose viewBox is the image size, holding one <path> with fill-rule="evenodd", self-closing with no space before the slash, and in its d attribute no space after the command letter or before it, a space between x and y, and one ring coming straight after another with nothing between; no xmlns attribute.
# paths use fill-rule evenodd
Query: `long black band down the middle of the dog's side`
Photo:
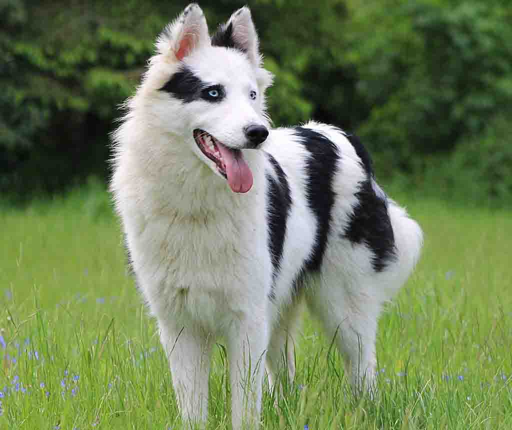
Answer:
<svg viewBox="0 0 512 430"><path fill-rule="evenodd" d="M332 206L336 194L332 180L336 172L339 153L337 146L324 135L309 128L296 127L295 136L301 138L310 156L306 161L308 181L306 198L316 217L316 237L313 249L304 264L307 271L316 271L322 265L332 219Z"/></svg>

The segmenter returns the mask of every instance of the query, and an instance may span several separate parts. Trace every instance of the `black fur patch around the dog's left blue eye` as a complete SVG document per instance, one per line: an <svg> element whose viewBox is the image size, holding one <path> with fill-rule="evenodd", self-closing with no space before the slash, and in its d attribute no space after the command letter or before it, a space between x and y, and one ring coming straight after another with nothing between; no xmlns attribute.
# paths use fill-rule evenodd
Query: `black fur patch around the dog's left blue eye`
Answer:
<svg viewBox="0 0 512 430"><path fill-rule="evenodd" d="M222 85L212 85L201 80L190 68L184 65L170 77L160 91L165 91L185 103L199 99L219 102L226 96L226 91ZM217 91L218 96L211 96L210 91Z"/></svg>

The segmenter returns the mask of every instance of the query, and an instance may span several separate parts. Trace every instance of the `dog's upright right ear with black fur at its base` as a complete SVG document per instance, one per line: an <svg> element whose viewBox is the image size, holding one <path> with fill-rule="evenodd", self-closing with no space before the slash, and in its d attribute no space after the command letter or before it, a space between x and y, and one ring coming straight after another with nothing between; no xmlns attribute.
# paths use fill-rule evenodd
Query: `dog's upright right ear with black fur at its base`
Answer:
<svg viewBox="0 0 512 430"><path fill-rule="evenodd" d="M261 65L258 34L247 6L234 12L228 22L219 27L211 38L211 44L240 49L247 54L254 66Z"/></svg>

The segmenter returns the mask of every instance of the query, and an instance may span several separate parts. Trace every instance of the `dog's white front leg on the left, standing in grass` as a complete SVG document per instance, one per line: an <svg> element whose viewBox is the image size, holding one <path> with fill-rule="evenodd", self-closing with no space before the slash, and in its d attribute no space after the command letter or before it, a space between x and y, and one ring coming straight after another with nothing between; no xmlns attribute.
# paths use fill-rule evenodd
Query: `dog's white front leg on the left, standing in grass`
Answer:
<svg viewBox="0 0 512 430"><path fill-rule="evenodd" d="M160 326L162 327L162 326ZM161 329L174 391L185 425L204 427L208 415L208 375L213 337L192 324Z"/></svg>

